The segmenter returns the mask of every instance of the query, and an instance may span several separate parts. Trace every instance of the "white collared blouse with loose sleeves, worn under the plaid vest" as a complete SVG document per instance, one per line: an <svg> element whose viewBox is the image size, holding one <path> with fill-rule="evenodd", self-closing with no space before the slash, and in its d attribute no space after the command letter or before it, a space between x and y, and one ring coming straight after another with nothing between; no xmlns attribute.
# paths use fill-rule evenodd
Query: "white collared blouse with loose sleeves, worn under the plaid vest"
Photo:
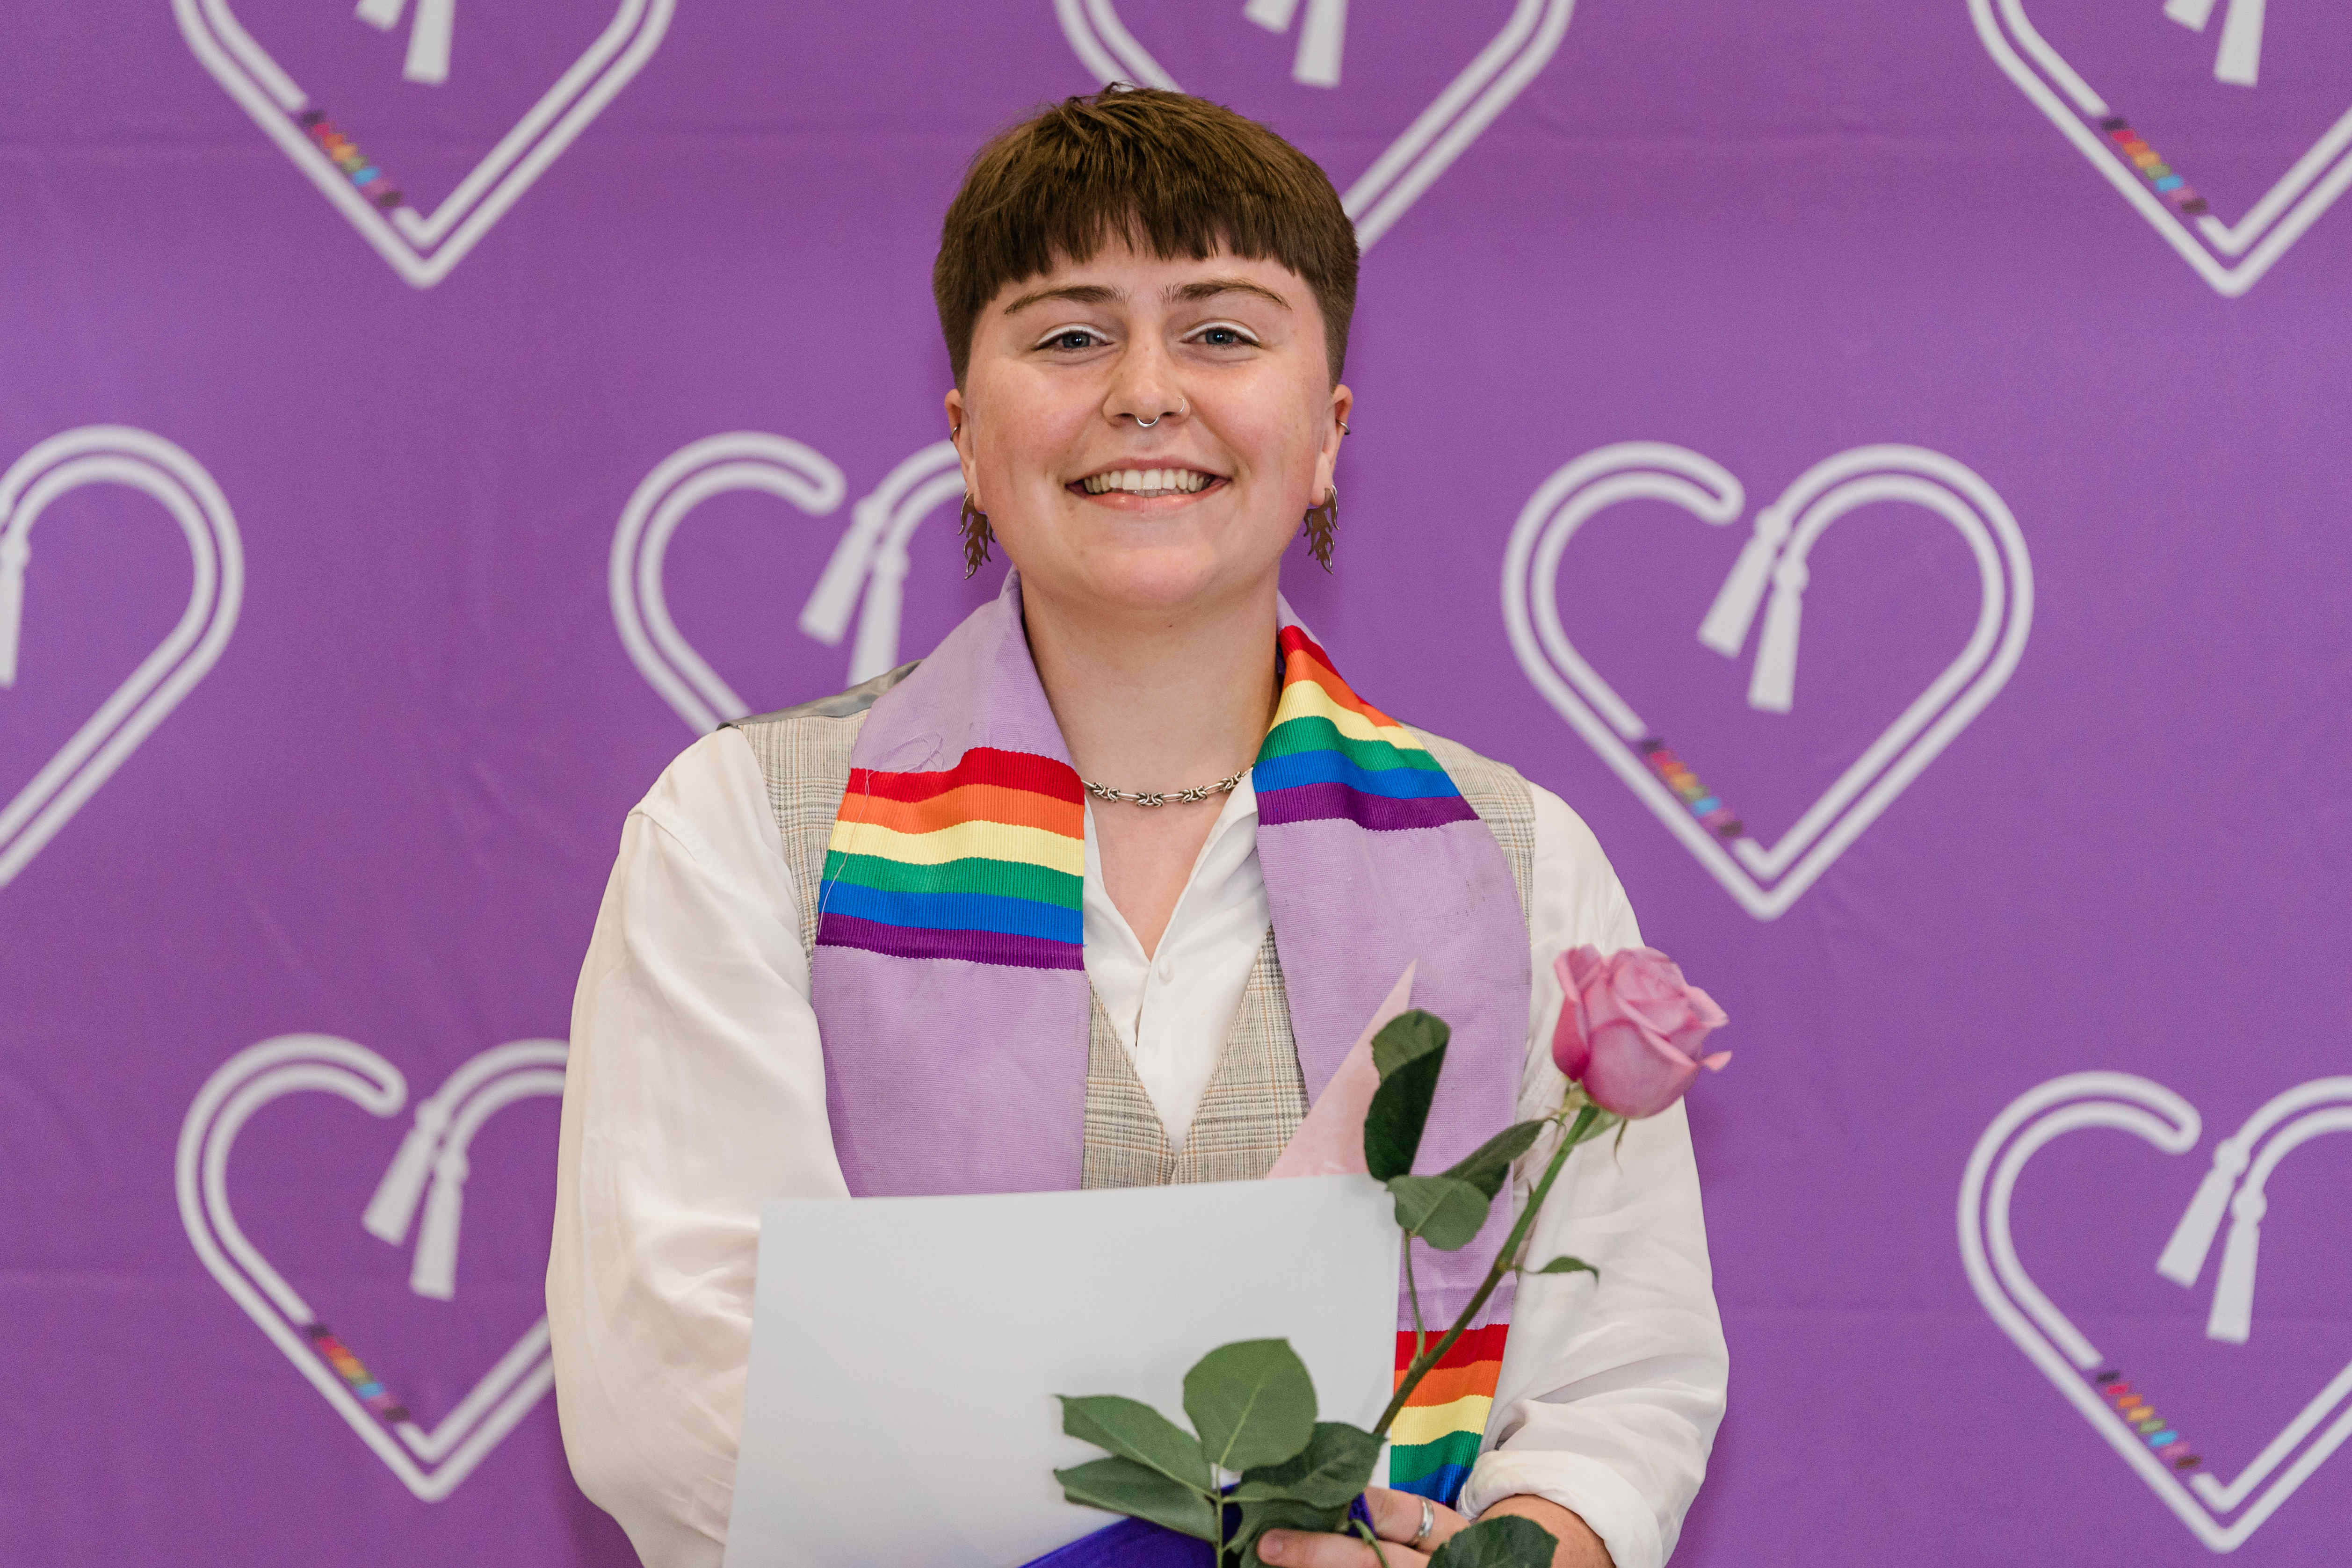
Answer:
<svg viewBox="0 0 2352 1568"><path fill-rule="evenodd" d="M1559 1103L1555 954L1637 945L1592 832L1536 788L1534 1001L1519 1114ZM1249 783L1225 802L1155 959L1103 893L1087 835L1084 961L1181 1138L1265 936ZM1524 1194L1526 1168L1517 1173ZM750 743L696 741L628 813L572 1006L548 1328L581 1490L649 1568L715 1568L727 1540L760 1204L849 1197L826 1121L809 959ZM1541 1166L1536 1166L1541 1171ZM1569 1159L1526 1276L1461 1509L1534 1493L1618 1568L1658 1568L1705 1474L1726 1352L1682 1107ZM920 1413L910 1413L920 1420Z"/></svg>

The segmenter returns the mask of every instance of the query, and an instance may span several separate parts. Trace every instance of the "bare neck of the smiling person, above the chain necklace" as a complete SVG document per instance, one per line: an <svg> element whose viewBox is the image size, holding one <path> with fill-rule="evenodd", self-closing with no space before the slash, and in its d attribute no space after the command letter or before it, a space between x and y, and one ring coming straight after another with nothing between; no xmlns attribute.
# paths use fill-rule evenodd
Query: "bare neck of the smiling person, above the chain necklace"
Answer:
<svg viewBox="0 0 2352 1568"><path fill-rule="evenodd" d="M1082 778L1188 790L1249 766L1275 717L1275 585L1183 614L1080 611L1023 578L1037 679Z"/></svg>

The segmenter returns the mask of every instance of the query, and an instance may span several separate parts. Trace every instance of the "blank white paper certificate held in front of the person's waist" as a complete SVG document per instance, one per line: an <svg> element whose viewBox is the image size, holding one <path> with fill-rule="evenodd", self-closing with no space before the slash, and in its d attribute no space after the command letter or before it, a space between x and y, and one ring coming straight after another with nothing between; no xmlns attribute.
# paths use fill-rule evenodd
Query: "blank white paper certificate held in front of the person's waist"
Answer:
<svg viewBox="0 0 2352 1568"><path fill-rule="evenodd" d="M1014 1568L1110 1514L1061 1500L1054 1394L1183 1422L1183 1373L1287 1338L1322 1420L1388 1403L1397 1222L1369 1175L760 1213L727 1568Z"/></svg>

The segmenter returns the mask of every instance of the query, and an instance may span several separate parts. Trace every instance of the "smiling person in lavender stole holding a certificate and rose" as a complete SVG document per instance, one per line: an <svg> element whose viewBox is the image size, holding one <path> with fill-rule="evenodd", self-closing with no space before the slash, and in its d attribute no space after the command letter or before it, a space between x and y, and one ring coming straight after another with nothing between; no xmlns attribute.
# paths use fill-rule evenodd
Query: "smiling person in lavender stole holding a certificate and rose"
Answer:
<svg viewBox="0 0 2352 1568"><path fill-rule="evenodd" d="M1639 945L1609 860L1359 698L1277 592L1301 524L1336 538L1355 270L1322 169L1200 99L1070 99L974 160L934 292L1004 590L915 665L696 741L628 813L581 971L557 1410L649 1566L724 1547L762 1201L1263 1175L1406 961L1454 1027L1421 1168L1559 1103L1555 957ZM1562 1185L1531 1255L1599 1276L1529 1276L1399 1415L1390 1568L1479 1514L1559 1563L1672 1552L1726 1382L1682 1110ZM1503 1211L1428 1253L1435 1321Z"/></svg>

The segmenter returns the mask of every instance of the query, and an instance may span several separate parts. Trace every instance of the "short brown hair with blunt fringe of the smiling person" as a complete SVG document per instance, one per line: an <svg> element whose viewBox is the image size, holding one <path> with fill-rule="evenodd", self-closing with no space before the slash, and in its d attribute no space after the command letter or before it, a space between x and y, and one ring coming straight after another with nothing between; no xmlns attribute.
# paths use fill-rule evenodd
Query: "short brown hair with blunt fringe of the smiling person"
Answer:
<svg viewBox="0 0 2352 1568"><path fill-rule="evenodd" d="M1225 249L1291 268L1315 292L1338 381L1355 315L1355 223L1331 179L1221 103L1105 87L1002 132L964 172L931 266L955 383L997 289L1089 261L1115 235L1162 259Z"/></svg>

